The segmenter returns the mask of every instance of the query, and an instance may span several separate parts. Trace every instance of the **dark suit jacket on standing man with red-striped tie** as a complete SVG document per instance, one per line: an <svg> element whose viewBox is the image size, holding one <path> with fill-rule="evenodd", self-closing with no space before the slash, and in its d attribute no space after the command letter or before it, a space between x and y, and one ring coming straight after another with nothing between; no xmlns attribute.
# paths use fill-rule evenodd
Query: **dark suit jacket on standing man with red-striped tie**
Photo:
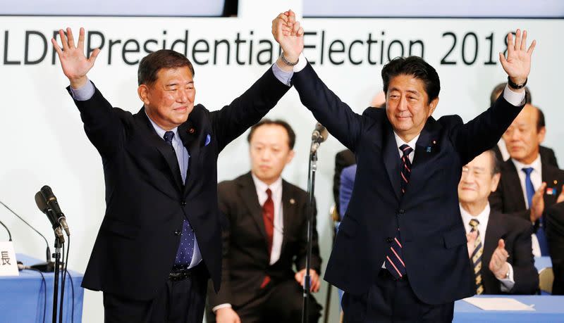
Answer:
<svg viewBox="0 0 564 323"><path fill-rule="evenodd" d="M400 194L400 156L386 110L357 115L311 65L295 72L302 103L355 153L357 177L325 279L361 295L372 286L398 226L403 260L417 298L442 304L474 293L458 205L462 165L493 147L520 112L503 99L464 124L457 115L429 118L415 147L410 182Z"/></svg>

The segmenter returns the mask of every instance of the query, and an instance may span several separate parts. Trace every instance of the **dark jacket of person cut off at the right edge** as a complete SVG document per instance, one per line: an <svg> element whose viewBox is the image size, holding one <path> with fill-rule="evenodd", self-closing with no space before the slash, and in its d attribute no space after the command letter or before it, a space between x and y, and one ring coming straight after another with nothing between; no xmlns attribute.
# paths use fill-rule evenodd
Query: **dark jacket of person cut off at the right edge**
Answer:
<svg viewBox="0 0 564 323"><path fill-rule="evenodd" d="M564 295L564 203L546 211L546 239L554 272L553 295Z"/></svg>

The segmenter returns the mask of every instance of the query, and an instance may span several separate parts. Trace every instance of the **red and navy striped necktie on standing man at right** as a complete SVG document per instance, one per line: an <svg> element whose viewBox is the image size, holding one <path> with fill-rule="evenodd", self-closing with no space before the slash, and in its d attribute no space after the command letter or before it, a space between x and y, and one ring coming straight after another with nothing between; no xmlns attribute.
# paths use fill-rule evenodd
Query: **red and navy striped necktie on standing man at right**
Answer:
<svg viewBox="0 0 564 323"><path fill-rule="evenodd" d="M410 182L411 161L408 157L413 148L405 144L400 146L403 156L401 157L401 195L405 194L407 183ZM397 215L396 215L397 216ZM401 245L400 228L390 244L390 250L386 254L386 269L397 279L405 275L405 263L403 262L403 253Z"/></svg>

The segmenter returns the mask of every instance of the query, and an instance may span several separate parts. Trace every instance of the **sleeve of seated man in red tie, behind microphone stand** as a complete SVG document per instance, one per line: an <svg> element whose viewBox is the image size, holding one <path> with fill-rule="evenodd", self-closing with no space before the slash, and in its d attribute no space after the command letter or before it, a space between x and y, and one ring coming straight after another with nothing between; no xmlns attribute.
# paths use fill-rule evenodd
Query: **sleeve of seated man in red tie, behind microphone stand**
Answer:
<svg viewBox="0 0 564 323"><path fill-rule="evenodd" d="M300 271L305 269L305 258L307 255L307 198L304 199L302 212L305 215L303 217L302 234L300 237L300 246L298 248L298 254L295 258L296 270ZM312 261L310 262L312 270L315 270L317 274L321 275L321 256L319 255L319 243L317 236L317 204L314 200L313 208L313 221L312 221Z"/></svg>

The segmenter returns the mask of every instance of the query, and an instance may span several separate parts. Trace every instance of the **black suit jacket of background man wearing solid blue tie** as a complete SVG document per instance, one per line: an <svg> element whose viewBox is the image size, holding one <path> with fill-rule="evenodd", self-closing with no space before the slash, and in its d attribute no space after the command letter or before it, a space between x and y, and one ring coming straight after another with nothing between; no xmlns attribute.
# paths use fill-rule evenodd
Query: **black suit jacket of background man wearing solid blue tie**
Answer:
<svg viewBox="0 0 564 323"><path fill-rule="evenodd" d="M496 191L489 196L489 203L492 210L516 215L530 222L531 213L526 207L525 196L523 196L523 189L517 171L511 159L501 164L501 179ZM541 163L541 173L542 181L546 182L546 187L554 189L556 192L556 194L544 194L543 196L546 213L546 210L556 203L558 194L560 194L564 184L564 171L547 163ZM535 223L535 227L538 227L538 225L539 221Z"/></svg>

